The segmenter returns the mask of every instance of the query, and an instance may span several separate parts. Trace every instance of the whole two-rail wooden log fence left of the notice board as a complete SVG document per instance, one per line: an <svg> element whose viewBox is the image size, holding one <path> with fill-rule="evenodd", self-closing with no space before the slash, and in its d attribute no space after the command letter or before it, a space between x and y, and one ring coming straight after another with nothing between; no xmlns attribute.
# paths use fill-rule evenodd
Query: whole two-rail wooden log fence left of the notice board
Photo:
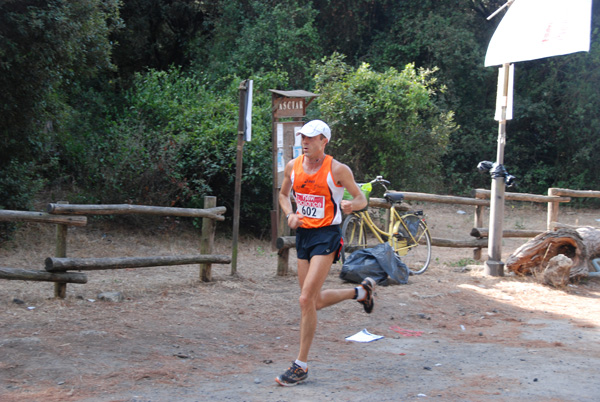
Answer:
<svg viewBox="0 0 600 402"><path fill-rule="evenodd" d="M141 268L200 264L200 280L211 281L212 264L229 264L231 257L212 254L214 248L215 221L223 221L225 207L217 207L216 197L204 198L204 209L155 207L147 205L74 205L48 204L47 212L0 210L0 221L41 222L56 224L56 250L54 257L45 261L45 270L26 270L0 267L0 279L54 282L54 296L65 298L67 283L87 283L81 272L104 269ZM176 256L123 257L123 258L67 258L67 233L69 226L87 225L82 215L141 214L202 218L200 254Z"/></svg>

